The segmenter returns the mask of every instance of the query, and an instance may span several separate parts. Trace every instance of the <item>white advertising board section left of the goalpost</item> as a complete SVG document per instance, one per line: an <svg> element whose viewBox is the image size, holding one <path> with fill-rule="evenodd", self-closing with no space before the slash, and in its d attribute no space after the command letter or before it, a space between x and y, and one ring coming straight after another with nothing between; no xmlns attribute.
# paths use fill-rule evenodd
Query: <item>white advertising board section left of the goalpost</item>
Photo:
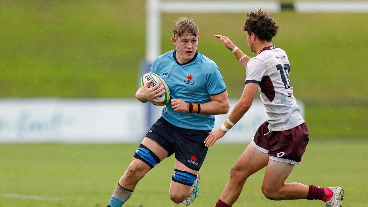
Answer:
<svg viewBox="0 0 368 207"><path fill-rule="evenodd" d="M132 99L1 100L0 142L136 143L144 108Z"/></svg>

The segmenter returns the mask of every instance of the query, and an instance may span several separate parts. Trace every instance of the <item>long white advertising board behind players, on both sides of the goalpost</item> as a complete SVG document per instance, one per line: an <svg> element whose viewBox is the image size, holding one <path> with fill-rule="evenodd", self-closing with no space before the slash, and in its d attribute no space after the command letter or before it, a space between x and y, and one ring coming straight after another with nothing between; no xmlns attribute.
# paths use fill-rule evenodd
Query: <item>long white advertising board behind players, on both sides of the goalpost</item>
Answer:
<svg viewBox="0 0 368 207"><path fill-rule="evenodd" d="M230 112L236 102L230 100ZM135 99L0 99L0 143L139 143L161 116L162 107L149 104ZM304 106L298 105L303 113ZM216 115L215 128L230 112ZM249 142L265 120L266 110L255 100L219 141Z"/></svg>

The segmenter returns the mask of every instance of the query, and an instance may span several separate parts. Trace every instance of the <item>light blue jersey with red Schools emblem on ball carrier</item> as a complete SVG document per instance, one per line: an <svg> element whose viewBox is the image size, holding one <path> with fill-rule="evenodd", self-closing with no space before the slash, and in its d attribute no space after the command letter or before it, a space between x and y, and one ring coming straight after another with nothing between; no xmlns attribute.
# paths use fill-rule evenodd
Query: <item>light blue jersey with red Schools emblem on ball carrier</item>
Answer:
<svg viewBox="0 0 368 207"><path fill-rule="evenodd" d="M211 101L210 95L226 91L221 71L213 60L196 51L190 61L180 64L175 53L176 50L171 50L161 55L149 70L164 79L170 90L170 99L207 103ZM162 116L184 129L212 130L215 123L215 115L176 112L171 101L162 109Z"/></svg>

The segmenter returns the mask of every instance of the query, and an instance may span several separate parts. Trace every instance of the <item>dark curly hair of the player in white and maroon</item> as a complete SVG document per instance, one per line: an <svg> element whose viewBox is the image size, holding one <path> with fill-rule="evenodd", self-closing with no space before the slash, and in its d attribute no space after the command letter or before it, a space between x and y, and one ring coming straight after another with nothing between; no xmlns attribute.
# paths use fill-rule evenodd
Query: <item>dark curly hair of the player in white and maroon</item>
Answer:
<svg viewBox="0 0 368 207"><path fill-rule="evenodd" d="M244 22L243 30L248 31L248 35L253 32L260 41L270 42L276 36L279 25L269 15L259 9L256 12L247 13L247 20Z"/></svg>

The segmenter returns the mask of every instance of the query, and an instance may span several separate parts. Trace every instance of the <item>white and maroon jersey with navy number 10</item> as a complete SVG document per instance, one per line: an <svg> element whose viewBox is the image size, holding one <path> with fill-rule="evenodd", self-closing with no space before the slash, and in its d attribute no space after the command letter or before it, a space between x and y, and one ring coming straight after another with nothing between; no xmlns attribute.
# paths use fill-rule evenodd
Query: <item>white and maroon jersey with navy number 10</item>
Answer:
<svg viewBox="0 0 368 207"><path fill-rule="evenodd" d="M275 45L263 48L249 60L246 71L245 84L259 84L269 130L284 131L304 123L290 86L290 63L284 50Z"/></svg>

